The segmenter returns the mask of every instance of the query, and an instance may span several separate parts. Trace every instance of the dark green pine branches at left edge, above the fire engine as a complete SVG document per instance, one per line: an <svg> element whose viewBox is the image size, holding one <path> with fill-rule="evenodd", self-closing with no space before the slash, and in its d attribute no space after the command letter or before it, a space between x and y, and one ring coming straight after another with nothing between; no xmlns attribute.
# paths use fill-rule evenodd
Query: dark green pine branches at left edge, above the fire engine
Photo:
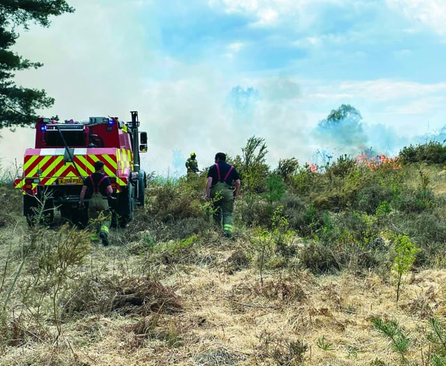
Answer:
<svg viewBox="0 0 446 366"><path fill-rule="evenodd" d="M36 109L54 104L54 98L47 96L45 90L17 86L14 82L15 72L43 66L10 49L19 38L17 27L28 30L31 22L49 26L51 15L73 11L65 0L0 0L0 128L31 125L37 118Z"/></svg>

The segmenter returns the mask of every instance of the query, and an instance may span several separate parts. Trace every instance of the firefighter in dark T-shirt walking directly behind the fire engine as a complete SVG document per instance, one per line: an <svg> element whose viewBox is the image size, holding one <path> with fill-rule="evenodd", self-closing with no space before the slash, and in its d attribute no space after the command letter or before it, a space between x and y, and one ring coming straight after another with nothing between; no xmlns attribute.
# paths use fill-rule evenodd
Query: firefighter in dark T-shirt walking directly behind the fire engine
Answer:
<svg viewBox="0 0 446 366"><path fill-rule="evenodd" d="M108 176L105 175L104 162L95 162L95 172L84 179L84 185L80 195L79 206L84 206L84 198L88 192L89 201L89 220L100 218L101 221L95 224L95 231L91 234L91 241L102 239L102 244L110 244L109 227L110 215L109 204L105 197L113 193L112 185Z"/></svg>

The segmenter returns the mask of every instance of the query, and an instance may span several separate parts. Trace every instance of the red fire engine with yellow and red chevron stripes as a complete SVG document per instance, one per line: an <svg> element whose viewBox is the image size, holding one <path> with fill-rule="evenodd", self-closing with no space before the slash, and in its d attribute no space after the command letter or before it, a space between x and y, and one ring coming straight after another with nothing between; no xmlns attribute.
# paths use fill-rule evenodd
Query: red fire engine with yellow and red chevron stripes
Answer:
<svg viewBox="0 0 446 366"><path fill-rule="evenodd" d="M147 152L147 132L139 132L138 112L130 114L132 121L127 123L110 116L81 123L37 120L34 148L26 149L23 176L14 182L22 190L29 225L51 223L59 210L64 220L85 227L89 200L79 207L79 195L98 160L105 163L112 183L112 226L125 227L132 220L134 206L144 206L147 177L139 153Z"/></svg>

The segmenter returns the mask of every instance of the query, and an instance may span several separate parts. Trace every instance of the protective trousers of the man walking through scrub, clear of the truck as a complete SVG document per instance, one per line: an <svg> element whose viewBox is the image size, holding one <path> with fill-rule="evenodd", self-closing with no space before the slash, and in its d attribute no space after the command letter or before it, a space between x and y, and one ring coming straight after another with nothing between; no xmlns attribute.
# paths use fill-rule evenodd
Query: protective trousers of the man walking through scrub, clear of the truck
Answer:
<svg viewBox="0 0 446 366"><path fill-rule="evenodd" d="M210 188L210 198L213 200L215 222L223 227L224 236L231 238L234 211L233 189L224 182L218 182Z"/></svg>

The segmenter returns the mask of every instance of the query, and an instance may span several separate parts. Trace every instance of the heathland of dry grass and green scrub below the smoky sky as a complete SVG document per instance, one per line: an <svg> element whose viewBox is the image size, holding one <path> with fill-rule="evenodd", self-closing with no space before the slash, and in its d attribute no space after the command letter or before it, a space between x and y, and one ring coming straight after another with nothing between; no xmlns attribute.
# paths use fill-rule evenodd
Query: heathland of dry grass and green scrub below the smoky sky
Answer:
<svg viewBox="0 0 446 366"><path fill-rule="evenodd" d="M3 174L0 365L445 365L443 145L323 167L241 151L232 239L206 172L152 176L110 247L29 228Z"/></svg>

